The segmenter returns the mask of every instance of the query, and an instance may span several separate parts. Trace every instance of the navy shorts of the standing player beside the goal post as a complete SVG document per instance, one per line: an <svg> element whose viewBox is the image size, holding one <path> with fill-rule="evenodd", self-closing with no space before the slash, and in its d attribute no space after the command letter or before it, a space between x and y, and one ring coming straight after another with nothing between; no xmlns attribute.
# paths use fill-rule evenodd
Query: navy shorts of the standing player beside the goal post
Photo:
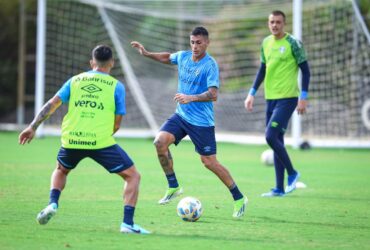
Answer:
<svg viewBox="0 0 370 250"><path fill-rule="evenodd" d="M285 133L290 117L297 107L298 98L267 100L266 129L277 128Z"/></svg>

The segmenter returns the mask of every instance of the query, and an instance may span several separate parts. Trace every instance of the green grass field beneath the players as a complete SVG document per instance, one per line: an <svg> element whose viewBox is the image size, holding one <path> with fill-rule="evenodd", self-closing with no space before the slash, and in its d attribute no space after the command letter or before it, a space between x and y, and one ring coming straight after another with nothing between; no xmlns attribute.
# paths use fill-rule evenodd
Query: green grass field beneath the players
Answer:
<svg viewBox="0 0 370 250"><path fill-rule="evenodd" d="M153 231L142 236L119 233L123 182L89 159L69 175L56 217L38 225L60 142L20 146L17 136L0 133L0 249L370 249L368 149L289 150L307 188L269 199L260 197L274 184L259 160L266 146L219 144L218 159L250 200L236 220L228 190L184 141L171 148L178 180L204 208L189 223L176 215L178 200L157 205L167 185L152 141L119 139L142 175L135 222Z"/></svg>

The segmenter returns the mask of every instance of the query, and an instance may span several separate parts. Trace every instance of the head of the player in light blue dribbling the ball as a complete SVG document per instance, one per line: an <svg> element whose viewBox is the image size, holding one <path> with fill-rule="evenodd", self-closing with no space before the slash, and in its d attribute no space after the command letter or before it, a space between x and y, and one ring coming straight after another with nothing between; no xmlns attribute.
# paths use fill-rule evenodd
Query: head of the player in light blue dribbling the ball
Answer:
<svg viewBox="0 0 370 250"><path fill-rule="evenodd" d="M204 27L195 27L190 33L190 47L194 59L201 59L209 45L208 31Z"/></svg>

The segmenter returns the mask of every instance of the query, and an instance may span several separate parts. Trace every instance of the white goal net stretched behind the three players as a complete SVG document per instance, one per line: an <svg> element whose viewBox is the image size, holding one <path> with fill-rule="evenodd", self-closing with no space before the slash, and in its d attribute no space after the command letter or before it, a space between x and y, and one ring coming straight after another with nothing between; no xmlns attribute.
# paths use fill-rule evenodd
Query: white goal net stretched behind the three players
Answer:
<svg viewBox="0 0 370 250"><path fill-rule="evenodd" d="M149 51L187 50L190 31L202 25L210 32L208 52L220 67L217 138L264 143L263 88L252 113L244 109L244 99L260 64L261 41L269 35L267 17L274 9L287 14L286 31L291 33L292 1L286 0L48 1L45 99L72 75L89 70L93 47L108 44L116 56L112 75L127 90L127 115L120 135L153 136L175 110L177 70L140 56L130 42L140 41ZM370 146L366 26L351 1L304 1L302 9L302 41L311 84L301 140L314 145ZM58 126L65 112L66 105L46 122L45 132Z"/></svg>

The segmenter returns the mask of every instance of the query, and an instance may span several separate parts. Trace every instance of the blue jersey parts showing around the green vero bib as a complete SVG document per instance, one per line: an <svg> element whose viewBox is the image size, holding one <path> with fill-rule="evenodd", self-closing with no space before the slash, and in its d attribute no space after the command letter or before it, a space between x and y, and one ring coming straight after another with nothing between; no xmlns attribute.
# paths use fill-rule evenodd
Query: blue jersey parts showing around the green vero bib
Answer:
<svg viewBox="0 0 370 250"><path fill-rule="evenodd" d="M98 73L98 74L106 74L99 71L91 70L89 72ZM69 97L71 94L71 81L72 78L70 78L68 81L66 81L63 86L59 89L57 92L57 95L60 97L63 103L67 103L69 101ZM114 101L116 104L116 115L125 115L126 114L126 101L125 101L126 91L125 86L118 81L116 85L116 89L114 90Z"/></svg>

